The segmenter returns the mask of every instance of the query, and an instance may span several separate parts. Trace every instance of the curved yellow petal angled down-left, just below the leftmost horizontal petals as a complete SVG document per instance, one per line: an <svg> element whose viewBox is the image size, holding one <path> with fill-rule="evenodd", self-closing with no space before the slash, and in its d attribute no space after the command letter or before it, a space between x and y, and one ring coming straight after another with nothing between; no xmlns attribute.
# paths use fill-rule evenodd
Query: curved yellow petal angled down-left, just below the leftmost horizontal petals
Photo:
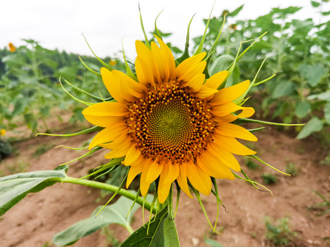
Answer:
<svg viewBox="0 0 330 247"><path fill-rule="evenodd" d="M107 143L109 141L114 141L124 132L127 132L127 126L124 122L120 124L113 124L109 128L104 128L96 136L93 138L91 143L89 144L89 150L94 148L96 145L101 143Z"/></svg>

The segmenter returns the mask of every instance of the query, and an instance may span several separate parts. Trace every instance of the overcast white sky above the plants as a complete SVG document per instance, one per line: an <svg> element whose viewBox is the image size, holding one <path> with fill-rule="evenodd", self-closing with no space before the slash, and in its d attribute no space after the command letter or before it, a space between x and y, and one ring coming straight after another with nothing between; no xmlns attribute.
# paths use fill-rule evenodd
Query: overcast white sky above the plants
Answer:
<svg viewBox="0 0 330 247"><path fill-rule="evenodd" d="M111 56L122 47L126 56L135 56L134 40L142 39L138 2L147 32L157 27L172 32L170 41L184 47L188 22L196 14L190 28L190 37L203 33L202 19L208 18L214 0L6 0L0 2L0 47L9 42L23 45L22 38L32 38L48 49L58 48L76 54L91 55L83 36L99 56ZM309 0L217 0L212 16L223 10L234 10L245 4L239 19L254 19L267 14L271 8L290 5L304 7L298 19L316 16ZM326 11L326 10L325 10ZM327 10L329 11L329 10ZM133 54L132 54L133 53ZM121 57L120 53L117 53Z"/></svg>

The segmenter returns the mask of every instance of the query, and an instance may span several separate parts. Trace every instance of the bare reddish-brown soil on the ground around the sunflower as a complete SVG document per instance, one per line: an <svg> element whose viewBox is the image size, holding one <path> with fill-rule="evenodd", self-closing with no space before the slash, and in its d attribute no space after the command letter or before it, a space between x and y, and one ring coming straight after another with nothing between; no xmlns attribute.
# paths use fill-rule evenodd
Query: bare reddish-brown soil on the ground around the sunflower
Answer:
<svg viewBox="0 0 330 247"><path fill-rule="evenodd" d="M61 129L56 123L50 125L53 130L55 126L58 130ZM65 131L67 130L60 132ZM69 138L39 136L16 143L14 150L17 151L0 163L0 170L2 175L8 175L12 172L54 169L85 152L53 148L54 146L80 147L93 136L94 134ZM218 180L219 195L225 209L220 207L219 210L217 231L221 234L217 235L212 233L196 198L191 199L181 193L175 218L181 247L206 247L208 245L204 242L204 237L214 239L225 247L273 246L265 237L265 216L275 220L289 218L289 227L298 233L298 237L287 246L330 246L330 213L319 217L317 214L327 208L312 207L322 202L314 191L324 196L330 195L330 166L320 163L327 150L313 138L298 141L291 134L274 128L256 132L256 136L259 141L253 148L258 151L260 158L281 170L285 170L287 164L294 163L298 174L285 176L261 163L258 163L259 167L256 169L248 169L245 165L247 158L238 157L248 176L258 183L265 185L261 178L263 174L276 174L277 182L266 185L273 195L258 191L239 179ZM41 150L41 147L45 153L36 154L36 150ZM91 158L71 163L69 176L84 176L93 167L105 163L105 152L101 150ZM47 187L39 193L30 193L0 217L0 246L54 246L52 236L55 233L89 217L107 199L101 198L98 189L65 183ZM202 200L208 217L214 224L217 217L216 200L214 196L202 196ZM142 210L138 210L132 227L137 229L141 225ZM104 231L97 231L80 239L73 246L112 246L109 232L120 242L129 235L122 226L111 225L107 235Z"/></svg>

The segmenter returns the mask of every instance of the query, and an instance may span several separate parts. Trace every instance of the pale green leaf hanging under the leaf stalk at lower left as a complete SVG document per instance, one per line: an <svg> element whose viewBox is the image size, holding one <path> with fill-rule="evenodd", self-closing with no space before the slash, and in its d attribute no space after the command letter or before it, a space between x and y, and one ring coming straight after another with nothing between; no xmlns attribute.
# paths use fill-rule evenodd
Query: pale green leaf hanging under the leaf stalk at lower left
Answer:
<svg viewBox="0 0 330 247"><path fill-rule="evenodd" d="M132 231L130 226L132 217L135 211L140 207L139 204L134 204L131 209L132 204L132 200L121 196L117 202L104 207L96 217L96 214L100 211L102 206L97 207L89 218L80 220L64 231L56 233L52 241L58 246L72 245L80 238L90 235L109 224L120 224L127 228L128 231Z"/></svg>

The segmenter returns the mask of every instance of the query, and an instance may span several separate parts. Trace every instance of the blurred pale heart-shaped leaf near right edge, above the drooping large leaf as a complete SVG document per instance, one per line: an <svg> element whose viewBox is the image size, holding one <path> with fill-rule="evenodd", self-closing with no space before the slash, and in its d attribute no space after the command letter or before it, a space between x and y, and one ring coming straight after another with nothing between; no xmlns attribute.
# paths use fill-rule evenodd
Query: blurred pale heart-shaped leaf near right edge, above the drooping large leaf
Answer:
<svg viewBox="0 0 330 247"><path fill-rule="evenodd" d="M300 75L303 76L311 86L317 86L320 83L322 77L327 73L325 69L321 67L320 64L301 64L298 67Z"/></svg>

